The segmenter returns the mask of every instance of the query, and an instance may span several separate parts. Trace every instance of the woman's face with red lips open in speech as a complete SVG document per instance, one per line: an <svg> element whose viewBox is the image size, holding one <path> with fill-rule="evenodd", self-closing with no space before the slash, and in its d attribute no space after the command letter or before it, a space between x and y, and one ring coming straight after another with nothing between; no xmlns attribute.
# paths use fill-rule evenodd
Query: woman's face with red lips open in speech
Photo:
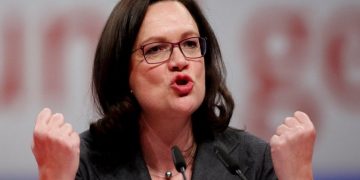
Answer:
<svg viewBox="0 0 360 180"><path fill-rule="evenodd" d="M199 36L194 19L181 3L160 1L148 8L133 49ZM187 60L176 46L168 61L148 64L139 49L131 57L130 87L143 115L189 118L205 96L204 58Z"/></svg>

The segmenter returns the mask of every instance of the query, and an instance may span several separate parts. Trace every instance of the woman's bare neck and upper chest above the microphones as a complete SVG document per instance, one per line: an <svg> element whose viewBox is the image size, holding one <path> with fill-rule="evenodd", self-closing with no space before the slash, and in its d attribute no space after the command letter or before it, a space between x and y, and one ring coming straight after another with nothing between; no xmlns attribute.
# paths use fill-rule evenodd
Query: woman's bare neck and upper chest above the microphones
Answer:
<svg viewBox="0 0 360 180"><path fill-rule="evenodd" d="M192 133L191 119L140 120L141 147L144 160L152 173L164 175L166 171L175 173L171 148L178 146L188 163L192 163L196 144ZM190 171L190 170L189 170ZM151 174L151 172L150 172Z"/></svg>

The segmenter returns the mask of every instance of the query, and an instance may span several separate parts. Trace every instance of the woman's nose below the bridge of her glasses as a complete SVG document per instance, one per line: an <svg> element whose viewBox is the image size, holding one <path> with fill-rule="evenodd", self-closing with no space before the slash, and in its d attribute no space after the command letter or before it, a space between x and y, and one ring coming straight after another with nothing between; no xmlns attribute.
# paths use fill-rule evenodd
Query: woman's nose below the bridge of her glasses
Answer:
<svg viewBox="0 0 360 180"><path fill-rule="evenodd" d="M182 71L188 67L189 61L186 60L186 57L178 46L173 48L168 65L171 71Z"/></svg>

